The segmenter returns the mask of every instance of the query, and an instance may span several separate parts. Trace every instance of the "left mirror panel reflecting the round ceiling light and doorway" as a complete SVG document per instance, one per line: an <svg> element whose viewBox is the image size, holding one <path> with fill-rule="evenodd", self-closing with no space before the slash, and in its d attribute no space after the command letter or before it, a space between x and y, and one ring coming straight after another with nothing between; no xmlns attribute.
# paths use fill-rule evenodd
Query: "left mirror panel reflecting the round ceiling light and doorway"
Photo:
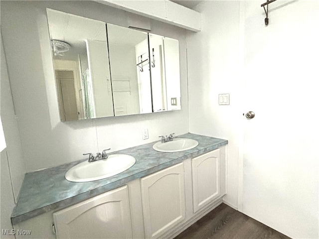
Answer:
<svg viewBox="0 0 319 239"><path fill-rule="evenodd" d="M47 9L62 121L114 116L106 23Z"/></svg>

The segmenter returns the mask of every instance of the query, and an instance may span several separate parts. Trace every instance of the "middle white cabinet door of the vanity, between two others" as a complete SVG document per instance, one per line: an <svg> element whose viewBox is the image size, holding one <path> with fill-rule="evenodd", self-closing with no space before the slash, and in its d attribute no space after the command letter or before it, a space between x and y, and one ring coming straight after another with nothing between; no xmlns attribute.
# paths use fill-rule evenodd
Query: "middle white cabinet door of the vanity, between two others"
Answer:
<svg viewBox="0 0 319 239"><path fill-rule="evenodd" d="M158 238L185 219L184 165L141 179L146 238Z"/></svg>

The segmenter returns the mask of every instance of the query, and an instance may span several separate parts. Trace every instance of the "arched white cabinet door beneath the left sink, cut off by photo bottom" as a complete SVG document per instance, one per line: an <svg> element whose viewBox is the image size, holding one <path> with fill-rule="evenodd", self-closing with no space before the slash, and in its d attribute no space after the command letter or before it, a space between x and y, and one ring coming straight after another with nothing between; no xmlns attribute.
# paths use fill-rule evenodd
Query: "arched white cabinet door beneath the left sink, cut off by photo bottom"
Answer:
<svg viewBox="0 0 319 239"><path fill-rule="evenodd" d="M54 213L53 218L58 239L132 238L127 186Z"/></svg>

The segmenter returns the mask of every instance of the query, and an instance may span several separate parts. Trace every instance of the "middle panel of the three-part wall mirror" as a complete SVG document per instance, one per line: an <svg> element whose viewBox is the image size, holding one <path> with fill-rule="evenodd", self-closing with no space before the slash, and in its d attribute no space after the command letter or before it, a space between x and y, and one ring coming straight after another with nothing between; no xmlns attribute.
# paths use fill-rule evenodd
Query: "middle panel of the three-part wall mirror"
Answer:
<svg viewBox="0 0 319 239"><path fill-rule="evenodd" d="M146 32L107 23L115 116L152 113Z"/></svg>

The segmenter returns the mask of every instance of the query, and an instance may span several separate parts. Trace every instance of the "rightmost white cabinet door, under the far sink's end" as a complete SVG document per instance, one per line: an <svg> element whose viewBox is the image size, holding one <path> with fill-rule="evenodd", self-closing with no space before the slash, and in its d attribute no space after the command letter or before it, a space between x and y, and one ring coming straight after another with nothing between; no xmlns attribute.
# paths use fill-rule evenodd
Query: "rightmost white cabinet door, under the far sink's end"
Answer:
<svg viewBox="0 0 319 239"><path fill-rule="evenodd" d="M220 151L192 159L194 213L220 196Z"/></svg>

